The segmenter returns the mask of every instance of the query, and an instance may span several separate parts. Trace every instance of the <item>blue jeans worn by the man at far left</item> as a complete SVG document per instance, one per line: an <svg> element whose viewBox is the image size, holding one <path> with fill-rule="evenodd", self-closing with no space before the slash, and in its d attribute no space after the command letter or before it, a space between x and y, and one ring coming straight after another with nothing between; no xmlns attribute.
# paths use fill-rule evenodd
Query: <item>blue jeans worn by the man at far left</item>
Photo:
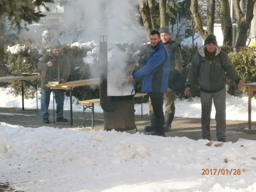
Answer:
<svg viewBox="0 0 256 192"><path fill-rule="evenodd" d="M48 108L52 91L42 90L41 94L41 115L43 118L49 118ZM63 116L64 90L53 90L56 102L56 116Z"/></svg>

